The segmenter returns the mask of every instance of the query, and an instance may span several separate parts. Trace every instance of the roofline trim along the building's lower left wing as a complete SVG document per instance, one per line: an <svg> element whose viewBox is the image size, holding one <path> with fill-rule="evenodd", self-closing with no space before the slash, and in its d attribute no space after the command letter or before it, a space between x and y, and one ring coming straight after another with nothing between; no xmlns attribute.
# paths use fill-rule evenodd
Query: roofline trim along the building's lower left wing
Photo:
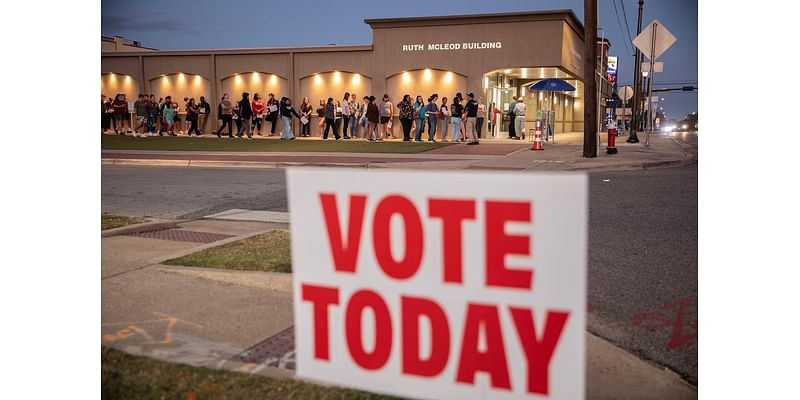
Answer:
<svg viewBox="0 0 800 400"><path fill-rule="evenodd" d="M242 55L242 54L288 54L288 53L321 53L331 51L372 51L372 45L345 45L345 46L303 46L303 47L265 47L265 48L239 48L239 49L196 49L196 50L156 50L156 51L125 51L101 53L102 57L112 56L209 56L209 55Z"/></svg>

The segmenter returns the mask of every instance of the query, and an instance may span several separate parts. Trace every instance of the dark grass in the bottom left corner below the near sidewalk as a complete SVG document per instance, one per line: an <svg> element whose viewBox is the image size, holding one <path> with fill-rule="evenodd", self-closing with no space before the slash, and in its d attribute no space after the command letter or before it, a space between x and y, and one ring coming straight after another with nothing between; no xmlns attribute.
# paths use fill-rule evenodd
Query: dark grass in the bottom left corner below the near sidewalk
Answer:
<svg viewBox="0 0 800 400"><path fill-rule="evenodd" d="M394 399L292 379L170 364L103 348L103 399Z"/></svg>

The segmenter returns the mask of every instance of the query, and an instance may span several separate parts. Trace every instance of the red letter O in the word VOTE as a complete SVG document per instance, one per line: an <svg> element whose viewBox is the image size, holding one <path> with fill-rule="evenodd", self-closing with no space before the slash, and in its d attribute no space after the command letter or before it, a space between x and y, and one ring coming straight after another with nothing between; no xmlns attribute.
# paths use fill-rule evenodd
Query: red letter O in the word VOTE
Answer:
<svg viewBox="0 0 800 400"><path fill-rule="evenodd" d="M400 261L392 256L391 218L399 214L405 231L405 254ZM422 261L422 221L417 208L403 196L387 196L378 204L373 221L372 239L375 258L386 275L407 279L417 273Z"/></svg>

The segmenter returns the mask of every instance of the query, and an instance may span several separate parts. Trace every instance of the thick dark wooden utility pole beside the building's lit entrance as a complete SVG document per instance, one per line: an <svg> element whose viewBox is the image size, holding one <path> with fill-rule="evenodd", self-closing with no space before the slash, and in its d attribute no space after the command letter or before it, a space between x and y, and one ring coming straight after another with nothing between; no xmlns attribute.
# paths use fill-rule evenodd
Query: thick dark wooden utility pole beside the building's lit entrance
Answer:
<svg viewBox="0 0 800 400"><path fill-rule="evenodd" d="M583 2L583 156L597 157L597 0Z"/></svg>

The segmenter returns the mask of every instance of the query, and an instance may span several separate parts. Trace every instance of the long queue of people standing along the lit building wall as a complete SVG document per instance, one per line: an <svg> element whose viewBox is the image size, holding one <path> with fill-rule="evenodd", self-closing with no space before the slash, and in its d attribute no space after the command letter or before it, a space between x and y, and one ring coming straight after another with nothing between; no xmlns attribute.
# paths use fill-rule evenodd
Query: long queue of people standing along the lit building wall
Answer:
<svg viewBox="0 0 800 400"><path fill-rule="evenodd" d="M242 93L241 99L232 101L226 93L217 106L218 128L213 130L217 137L236 137L252 140L253 136L274 136L278 121L281 122L280 138L294 140L293 119L299 120L300 136L311 136L311 121L314 114L318 118L320 136L327 140L329 134L335 140L348 140L363 137L368 141L382 141L393 138L392 121L395 117L400 121L402 140L405 142L422 142L423 134L427 128L427 141L436 143L437 130L441 141L466 142L478 144L482 138L482 130L486 121L487 112L491 114L488 130L493 132L497 123L497 114L500 112L494 104L487 107L473 93L468 93L465 99L461 93L456 93L452 102L447 97L434 93L423 101L417 95L412 102L411 96L406 94L397 104L391 101L389 94L384 94L376 102L374 96L363 96L361 99L355 93L345 93L342 100L333 97L320 99L319 107L314 109L307 97L303 98L299 110L295 110L292 100L282 97L275 98L269 93L266 101L259 93L250 98L248 92ZM114 99L102 96L102 132L111 131L118 135L126 133L133 136L177 136L186 134L202 137L208 124L211 105L204 96L200 100L184 97L183 105L173 101L171 96L159 98L154 95L140 94L129 109L125 94L117 94ZM128 115L131 118L128 118ZM509 137L519 139L516 132L524 131L525 103L517 101L509 105L507 114L511 117ZM270 123L269 133L266 132L266 123ZM226 133L227 130L227 133ZM413 134L412 134L413 133Z"/></svg>

